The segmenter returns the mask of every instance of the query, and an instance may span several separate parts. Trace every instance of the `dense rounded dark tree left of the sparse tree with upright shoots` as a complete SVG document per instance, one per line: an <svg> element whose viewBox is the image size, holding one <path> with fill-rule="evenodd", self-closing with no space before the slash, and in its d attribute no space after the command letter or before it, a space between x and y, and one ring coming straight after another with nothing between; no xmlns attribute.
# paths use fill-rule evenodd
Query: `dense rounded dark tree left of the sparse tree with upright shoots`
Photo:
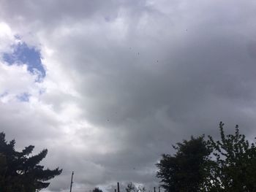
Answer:
<svg viewBox="0 0 256 192"><path fill-rule="evenodd" d="M201 137L191 137L173 146L176 154L163 154L157 164L162 187L171 192L200 191L208 177L207 167L211 150L207 142Z"/></svg>

